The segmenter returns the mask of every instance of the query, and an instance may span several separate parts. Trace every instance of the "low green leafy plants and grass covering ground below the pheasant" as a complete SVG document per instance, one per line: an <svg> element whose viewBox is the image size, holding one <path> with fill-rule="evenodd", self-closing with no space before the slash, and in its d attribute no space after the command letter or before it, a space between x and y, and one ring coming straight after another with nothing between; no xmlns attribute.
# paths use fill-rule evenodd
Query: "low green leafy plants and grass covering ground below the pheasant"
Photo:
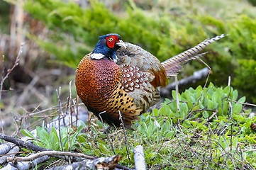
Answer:
<svg viewBox="0 0 256 170"><path fill-rule="evenodd" d="M179 94L178 110L176 92L172 94L173 101L166 100L160 109L141 115L133 125L135 130L126 132L128 151L123 130L111 132L110 143L102 133L105 125L99 120L71 131L70 150L98 157L121 154L121 164L133 167L133 148L143 145L148 169L256 168L255 132L250 129L256 118L249 118L250 110L243 109L245 97L238 99L238 91L230 86L198 86ZM82 132L87 128L89 132ZM55 128L50 134L45 128L37 128L40 140L26 130L22 132L38 146L61 148ZM62 128L61 136L62 145L68 150L67 128Z"/></svg>

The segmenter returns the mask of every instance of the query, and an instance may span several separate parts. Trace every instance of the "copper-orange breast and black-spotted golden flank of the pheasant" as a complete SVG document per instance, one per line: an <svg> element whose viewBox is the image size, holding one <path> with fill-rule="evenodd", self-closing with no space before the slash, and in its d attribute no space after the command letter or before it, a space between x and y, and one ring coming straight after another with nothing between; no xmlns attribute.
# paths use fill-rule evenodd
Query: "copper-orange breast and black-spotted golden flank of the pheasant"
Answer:
<svg viewBox="0 0 256 170"><path fill-rule="evenodd" d="M121 67L108 59L91 60L90 55L86 55L77 68L79 98L89 111L106 123L119 126L120 111L123 122L130 125L131 120L138 119L141 110L122 89Z"/></svg>

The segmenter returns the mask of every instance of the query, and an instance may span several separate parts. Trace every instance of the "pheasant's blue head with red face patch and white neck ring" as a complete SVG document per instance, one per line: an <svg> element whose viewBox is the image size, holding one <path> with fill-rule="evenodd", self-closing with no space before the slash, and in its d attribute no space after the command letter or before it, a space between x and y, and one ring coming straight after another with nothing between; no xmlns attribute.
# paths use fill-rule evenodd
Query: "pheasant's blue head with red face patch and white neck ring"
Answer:
<svg viewBox="0 0 256 170"><path fill-rule="evenodd" d="M99 37L99 42L96 44L94 51L91 52L91 59L101 60L106 58L113 62L117 61L116 50L120 47L126 47L121 40L120 35L116 33L110 33Z"/></svg>

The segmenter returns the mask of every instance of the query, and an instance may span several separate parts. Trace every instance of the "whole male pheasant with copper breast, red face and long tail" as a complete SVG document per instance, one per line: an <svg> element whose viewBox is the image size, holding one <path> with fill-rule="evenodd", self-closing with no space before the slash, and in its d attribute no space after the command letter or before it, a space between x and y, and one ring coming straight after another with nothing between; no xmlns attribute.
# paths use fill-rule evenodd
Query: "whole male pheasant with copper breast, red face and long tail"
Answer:
<svg viewBox="0 0 256 170"><path fill-rule="evenodd" d="M225 35L205 40L165 62L137 45L111 33L99 37L93 52L85 55L76 70L77 95L88 110L108 125L131 125L141 113L160 101L158 86L194 60L204 47ZM195 56L196 55L196 56Z"/></svg>

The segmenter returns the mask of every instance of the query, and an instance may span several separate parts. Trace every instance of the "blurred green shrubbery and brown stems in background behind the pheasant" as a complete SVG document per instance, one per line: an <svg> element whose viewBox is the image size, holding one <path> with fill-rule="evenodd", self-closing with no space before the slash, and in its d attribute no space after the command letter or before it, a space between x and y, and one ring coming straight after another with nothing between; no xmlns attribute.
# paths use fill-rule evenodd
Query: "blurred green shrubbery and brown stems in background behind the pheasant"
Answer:
<svg viewBox="0 0 256 170"><path fill-rule="evenodd" d="M4 84L1 108L47 108L57 103L55 89L68 89L74 69L94 49L99 35L118 33L160 61L222 33L202 59L212 69L208 82L231 86L256 103L256 1L111 0L0 1L1 68L10 68L22 42L18 67ZM206 67L193 61L179 79ZM206 80L193 84L204 85ZM9 91L9 88L12 91ZM29 88L28 88L29 87ZM74 89L74 86L73 86ZM25 92L26 94L24 94ZM73 90L75 94L75 90Z"/></svg>

